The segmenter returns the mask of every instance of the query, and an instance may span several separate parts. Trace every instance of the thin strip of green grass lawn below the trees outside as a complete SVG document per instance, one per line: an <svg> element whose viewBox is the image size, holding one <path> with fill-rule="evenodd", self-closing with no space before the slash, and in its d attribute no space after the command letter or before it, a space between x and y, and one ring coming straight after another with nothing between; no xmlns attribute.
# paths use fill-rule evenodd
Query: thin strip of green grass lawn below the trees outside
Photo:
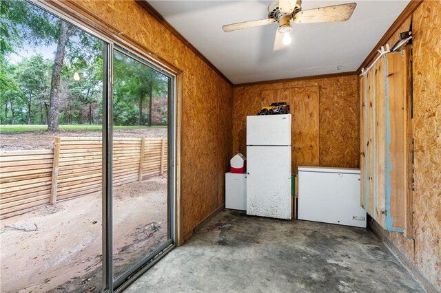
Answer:
<svg viewBox="0 0 441 293"><path fill-rule="evenodd" d="M152 128L165 128L167 126L152 126ZM60 130L97 130L101 131L101 125L89 124L74 124L74 125L60 125ZM147 126L138 125L114 125L113 129L145 129ZM0 125L0 132L25 132L25 131L45 131L48 130L48 125Z"/></svg>

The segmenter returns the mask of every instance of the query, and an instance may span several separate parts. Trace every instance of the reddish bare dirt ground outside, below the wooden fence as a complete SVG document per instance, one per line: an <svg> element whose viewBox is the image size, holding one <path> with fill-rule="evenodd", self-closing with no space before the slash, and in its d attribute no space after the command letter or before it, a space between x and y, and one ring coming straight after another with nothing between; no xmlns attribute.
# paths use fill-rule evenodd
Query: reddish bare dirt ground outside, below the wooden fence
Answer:
<svg viewBox="0 0 441 293"><path fill-rule="evenodd" d="M167 240L167 176L117 186L113 205L120 274ZM101 192L1 221L1 292L100 292L101 224Z"/></svg>

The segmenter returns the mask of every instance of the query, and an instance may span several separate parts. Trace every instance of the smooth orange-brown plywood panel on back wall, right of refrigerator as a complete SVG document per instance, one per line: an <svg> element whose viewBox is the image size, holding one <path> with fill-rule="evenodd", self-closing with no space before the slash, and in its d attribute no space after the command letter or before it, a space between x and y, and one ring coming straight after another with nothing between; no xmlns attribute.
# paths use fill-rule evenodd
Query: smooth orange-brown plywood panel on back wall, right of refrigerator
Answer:
<svg viewBox="0 0 441 293"><path fill-rule="evenodd" d="M292 158L297 166L318 166L318 102L320 88L294 87L291 89Z"/></svg>

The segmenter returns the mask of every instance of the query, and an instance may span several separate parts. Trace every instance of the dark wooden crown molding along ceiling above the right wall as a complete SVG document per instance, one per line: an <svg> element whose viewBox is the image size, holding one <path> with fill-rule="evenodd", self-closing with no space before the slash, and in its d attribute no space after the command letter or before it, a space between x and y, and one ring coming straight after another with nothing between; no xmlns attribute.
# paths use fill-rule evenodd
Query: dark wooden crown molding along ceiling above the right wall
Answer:
<svg viewBox="0 0 441 293"><path fill-rule="evenodd" d="M358 69L357 69L358 73L361 72L362 68L367 67L369 65L369 63L371 63L371 61L373 61L373 58L375 58L375 56L378 53L378 50L380 50L381 46L383 46L389 39L391 39L393 34L398 30L398 28L400 28L402 23L404 23L404 21L406 21L406 19L411 16L411 14L416 10L416 8L418 8L418 6L420 6L422 1L424 1L424 0L411 0L409 2L409 4L407 4L406 8L404 8L404 10L402 10L401 14L398 16L396 21L394 21L392 23L391 27L387 30L387 32L384 33L384 35L382 36L380 41L378 41L377 45L375 45L375 47L373 47L373 49L369 53L369 55L367 55L367 57L365 58L365 61L363 61L360 65L360 67L358 67Z"/></svg>

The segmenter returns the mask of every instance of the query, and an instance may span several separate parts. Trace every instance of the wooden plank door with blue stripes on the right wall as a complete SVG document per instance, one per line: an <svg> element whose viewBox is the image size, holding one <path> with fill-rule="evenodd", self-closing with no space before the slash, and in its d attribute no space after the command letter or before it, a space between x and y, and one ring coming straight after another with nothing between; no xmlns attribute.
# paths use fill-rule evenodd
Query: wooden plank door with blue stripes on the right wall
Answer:
<svg viewBox="0 0 441 293"><path fill-rule="evenodd" d="M360 81L362 206L387 230L412 229L409 52L380 58ZM365 118L363 118L363 113ZM363 131L365 133L363 133ZM363 200L363 199L362 199ZM409 206L409 208L408 208ZM407 219L408 217L408 219Z"/></svg>

